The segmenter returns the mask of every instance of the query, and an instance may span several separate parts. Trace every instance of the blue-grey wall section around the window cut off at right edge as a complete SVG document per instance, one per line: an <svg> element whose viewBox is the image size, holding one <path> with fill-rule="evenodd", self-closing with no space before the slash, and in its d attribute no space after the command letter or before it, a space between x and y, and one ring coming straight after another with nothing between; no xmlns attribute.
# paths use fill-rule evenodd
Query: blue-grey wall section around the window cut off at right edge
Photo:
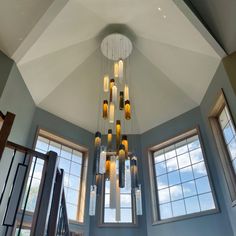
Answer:
<svg viewBox="0 0 236 236"><path fill-rule="evenodd" d="M236 79L236 78L234 78ZM227 77L227 74L224 70L224 66L221 63L217 72L215 73L215 76L210 84L210 86L207 89L207 92L205 94L204 99L202 100L201 103L201 114L203 117L203 123L204 123L204 129L203 132L205 136L207 136L207 139L205 140L205 145L208 147L208 155L211 156L212 159L214 159L214 164L216 167L216 173L215 173L215 178L218 179L219 187L223 191L223 200L225 201L226 204L226 209L229 214L229 219L234 231L234 235L236 235L236 206L232 207L231 206L231 200L230 200L230 195L227 187L227 183L224 178L224 173L223 173L223 168L221 165L219 153L217 151L217 146L214 141L214 136L211 131L210 123L208 121L208 114L212 107L214 106L217 96L223 88L225 92L226 99L229 103L229 107L231 109L234 122L236 123L236 96L235 93L232 89L231 83Z"/></svg>

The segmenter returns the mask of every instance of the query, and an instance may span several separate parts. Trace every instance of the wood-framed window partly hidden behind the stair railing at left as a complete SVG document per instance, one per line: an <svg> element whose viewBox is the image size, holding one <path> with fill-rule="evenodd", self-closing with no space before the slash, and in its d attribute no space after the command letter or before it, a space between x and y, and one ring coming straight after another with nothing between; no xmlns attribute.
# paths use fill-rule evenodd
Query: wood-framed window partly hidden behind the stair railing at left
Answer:
<svg viewBox="0 0 236 236"><path fill-rule="evenodd" d="M85 199L85 180L87 172L87 154L81 151L81 147L60 137L52 135L44 130L40 130L35 150L41 153L54 151L59 156L59 168L64 169L64 191L68 218L72 221L83 222L84 218L84 199ZM32 187L27 202L27 210L34 211L44 162L37 159L33 160L32 169L35 165ZM34 185L35 182L35 185Z"/></svg>

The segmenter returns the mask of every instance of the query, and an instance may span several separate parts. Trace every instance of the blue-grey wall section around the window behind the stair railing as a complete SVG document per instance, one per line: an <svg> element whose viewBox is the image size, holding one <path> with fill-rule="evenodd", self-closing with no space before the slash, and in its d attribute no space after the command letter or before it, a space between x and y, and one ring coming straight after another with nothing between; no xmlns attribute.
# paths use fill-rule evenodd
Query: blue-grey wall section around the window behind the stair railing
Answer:
<svg viewBox="0 0 236 236"><path fill-rule="evenodd" d="M70 225L73 231L83 231L84 236L91 235L89 233L90 217L88 215L89 206L89 186L92 181L92 167L93 167L93 134L85 129L82 129L70 122L67 122L51 113L48 113L40 108L36 108L33 122L31 125L31 132L29 135L29 144L33 147L34 139L38 128L43 128L53 134L61 136L70 140L78 145L84 146L89 150L88 162L88 176L87 176L87 193L86 193L86 206L85 206L85 223L83 225Z"/></svg>

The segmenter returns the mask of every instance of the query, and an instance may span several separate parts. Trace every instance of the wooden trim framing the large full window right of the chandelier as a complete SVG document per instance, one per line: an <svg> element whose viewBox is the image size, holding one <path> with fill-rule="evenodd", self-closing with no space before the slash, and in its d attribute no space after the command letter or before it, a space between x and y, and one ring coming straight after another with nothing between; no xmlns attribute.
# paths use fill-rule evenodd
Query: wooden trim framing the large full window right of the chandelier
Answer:
<svg viewBox="0 0 236 236"><path fill-rule="evenodd" d="M198 135L198 138L199 138L204 163L206 166L207 176L208 176L209 184L211 187L211 193L212 193L213 200L215 203L215 209L186 214L186 215L182 215L182 216L174 216L174 217L171 217L168 219L161 220L160 213L159 213L158 196L157 196L157 191L156 191L156 178L155 178L153 154L154 154L154 152L156 152L160 149L163 149L163 148L165 148L169 145L175 144L177 142L181 142L181 141L185 140L186 138L190 138L194 135ZM193 128L193 129L190 129L188 131L182 132L181 134L177 134L172 138L168 138L167 140L148 148L148 169L149 169L149 180L150 180L150 190L151 190L150 191L151 192L151 195L150 195L151 201L150 202L151 202L151 209L152 209L151 210L151 212L152 212L152 225L160 225L160 224L166 224L166 223L171 223L171 222L176 222L176 221L181 221L181 220L187 220L187 219L192 219L195 217L202 217L202 216L216 214L216 213L220 212L218 201L217 201L216 194L215 194L215 188L214 188L214 185L212 182L212 176L211 176L211 173L210 173L210 170L208 167L208 163L207 163L205 148L204 148L204 144L202 141L202 136L201 136L199 126Z"/></svg>

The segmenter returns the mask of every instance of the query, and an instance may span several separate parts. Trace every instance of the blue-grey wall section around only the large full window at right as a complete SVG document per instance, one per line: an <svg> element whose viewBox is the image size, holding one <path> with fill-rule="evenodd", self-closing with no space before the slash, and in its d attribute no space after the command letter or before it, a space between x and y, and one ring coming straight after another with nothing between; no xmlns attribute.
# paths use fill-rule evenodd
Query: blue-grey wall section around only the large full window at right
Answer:
<svg viewBox="0 0 236 236"><path fill-rule="evenodd" d="M144 169L144 181L149 183L149 173L148 173L148 161L147 161L147 150L156 144L162 143L176 135L184 133L199 126L202 139L205 143L207 137L204 130L204 124L202 121L200 108L195 108L173 120L170 120L150 131L145 132L141 136L142 150L143 150L143 169ZM208 150L207 145L205 149ZM172 223L160 224L152 226L152 206L151 201L146 201L146 214L147 214L147 231L149 236L233 236L231 225L229 222L227 210L224 203L223 192L220 186L218 186L218 178L216 178L214 157L209 155L207 152L207 161L210 169L210 173L213 177L213 185L215 186L216 194L218 196L219 207L221 209L220 213L195 217L187 220L176 221ZM150 196L150 184L145 185L145 198L151 199Z"/></svg>

